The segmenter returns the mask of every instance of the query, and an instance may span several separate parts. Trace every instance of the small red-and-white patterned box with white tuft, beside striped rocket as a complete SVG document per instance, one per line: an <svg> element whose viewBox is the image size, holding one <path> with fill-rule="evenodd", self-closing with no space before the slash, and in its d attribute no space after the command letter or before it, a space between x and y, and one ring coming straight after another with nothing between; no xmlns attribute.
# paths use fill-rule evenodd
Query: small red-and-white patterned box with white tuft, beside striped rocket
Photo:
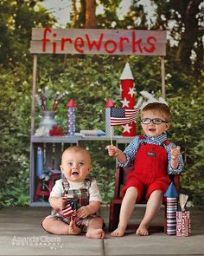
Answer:
<svg viewBox="0 0 204 256"><path fill-rule="evenodd" d="M182 210L176 211L176 236L191 235L190 212L185 210L187 200L187 194L180 194L179 202Z"/></svg>

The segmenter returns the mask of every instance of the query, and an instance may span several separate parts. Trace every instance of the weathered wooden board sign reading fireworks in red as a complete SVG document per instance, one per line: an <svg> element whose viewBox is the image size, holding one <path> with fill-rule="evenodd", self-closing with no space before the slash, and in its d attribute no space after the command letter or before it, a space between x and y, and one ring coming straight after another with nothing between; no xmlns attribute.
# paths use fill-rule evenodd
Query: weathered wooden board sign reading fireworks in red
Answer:
<svg viewBox="0 0 204 256"><path fill-rule="evenodd" d="M33 28L31 53L165 56L166 31Z"/></svg>

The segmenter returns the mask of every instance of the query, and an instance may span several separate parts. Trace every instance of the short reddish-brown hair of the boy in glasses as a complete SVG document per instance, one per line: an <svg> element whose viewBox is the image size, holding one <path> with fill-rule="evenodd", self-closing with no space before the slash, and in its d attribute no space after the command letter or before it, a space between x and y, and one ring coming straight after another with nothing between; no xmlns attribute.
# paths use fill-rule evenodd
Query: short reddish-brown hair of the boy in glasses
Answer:
<svg viewBox="0 0 204 256"><path fill-rule="evenodd" d="M158 112L161 115L163 115L163 117L165 118L165 121L170 122L171 113L170 113L169 107L164 103L160 103L160 102L149 103L142 109L142 115L143 115L143 112L145 111Z"/></svg>

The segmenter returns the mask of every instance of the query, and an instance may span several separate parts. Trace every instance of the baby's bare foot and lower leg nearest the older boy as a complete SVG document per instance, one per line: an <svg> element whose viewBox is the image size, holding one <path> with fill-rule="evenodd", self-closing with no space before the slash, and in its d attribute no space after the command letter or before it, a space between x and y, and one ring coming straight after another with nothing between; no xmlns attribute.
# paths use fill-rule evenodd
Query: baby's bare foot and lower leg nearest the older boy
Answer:
<svg viewBox="0 0 204 256"><path fill-rule="evenodd" d="M104 220L100 217L90 220L87 227L86 237L90 239L104 239L105 232L103 230Z"/></svg>

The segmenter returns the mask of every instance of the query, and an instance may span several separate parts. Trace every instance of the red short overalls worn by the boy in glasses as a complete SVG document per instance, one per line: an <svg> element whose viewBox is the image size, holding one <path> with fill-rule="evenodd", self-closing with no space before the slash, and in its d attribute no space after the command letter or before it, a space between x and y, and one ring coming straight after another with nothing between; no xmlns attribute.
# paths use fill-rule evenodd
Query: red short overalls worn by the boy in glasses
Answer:
<svg viewBox="0 0 204 256"><path fill-rule="evenodd" d="M142 136L140 138L143 139ZM163 144L168 145L169 141L163 141ZM170 183L167 166L167 151L163 145L143 142L138 148L133 171L128 175L123 195L128 187L137 188L137 202L143 194L148 200L154 190L162 190L164 194Z"/></svg>

